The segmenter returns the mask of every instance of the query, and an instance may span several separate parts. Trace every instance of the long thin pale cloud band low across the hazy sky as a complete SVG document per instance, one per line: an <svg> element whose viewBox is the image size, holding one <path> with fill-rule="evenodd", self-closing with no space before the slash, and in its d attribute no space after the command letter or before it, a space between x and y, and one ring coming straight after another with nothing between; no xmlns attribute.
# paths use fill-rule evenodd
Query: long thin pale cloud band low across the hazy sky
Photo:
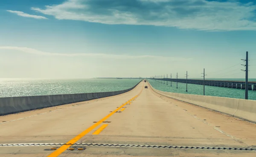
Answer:
<svg viewBox="0 0 256 157"><path fill-rule="evenodd" d="M101 58L113 58L113 59L164 59L169 61L184 61L191 60L191 58L183 57L163 57L163 56L152 56L152 55L119 55L119 54L99 54L99 53L74 53L74 54L61 54L61 53L49 53L44 51L39 51L36 49L31 49L27 47L15 47L15 46L0 46L0 50L15 50L21 51L23 53L45 55L45 56L64 56L64 57L101 57Z"/></svg>

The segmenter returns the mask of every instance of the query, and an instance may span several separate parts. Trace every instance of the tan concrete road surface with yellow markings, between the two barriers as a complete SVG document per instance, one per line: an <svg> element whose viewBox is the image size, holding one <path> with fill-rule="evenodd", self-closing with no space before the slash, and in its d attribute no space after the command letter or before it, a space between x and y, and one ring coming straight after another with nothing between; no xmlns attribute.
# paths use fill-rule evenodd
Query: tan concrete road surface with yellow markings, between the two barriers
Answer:
<svg viewBox="0 0 256 157"><path fill-rule="evenodd" d="M256 124L161 96L145 85L1 116L0 157L256 157L256 151L233 150L256 148Z"/></svg>

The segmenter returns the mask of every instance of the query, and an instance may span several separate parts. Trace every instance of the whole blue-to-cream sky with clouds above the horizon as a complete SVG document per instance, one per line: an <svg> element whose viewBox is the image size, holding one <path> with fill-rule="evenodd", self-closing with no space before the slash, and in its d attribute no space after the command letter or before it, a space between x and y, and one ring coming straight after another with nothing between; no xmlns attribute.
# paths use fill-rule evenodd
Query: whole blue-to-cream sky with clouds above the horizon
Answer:
<svg viewBox="0 0 256 157"><path fill-rule="evenodd" d="M254 0L0 0L0 78L256 78Z"/></svg>

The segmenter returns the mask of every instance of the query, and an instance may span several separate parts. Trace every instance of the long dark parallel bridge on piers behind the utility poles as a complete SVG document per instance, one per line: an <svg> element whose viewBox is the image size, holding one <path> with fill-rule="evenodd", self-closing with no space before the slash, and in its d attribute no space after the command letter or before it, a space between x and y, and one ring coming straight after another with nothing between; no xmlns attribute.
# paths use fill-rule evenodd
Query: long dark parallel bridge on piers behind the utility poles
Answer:
<svg viewBox="0 0 256 157"><path fill-rule="evenodd" d="M235 81L235 80L199 80L199 79L170 79L170 78L153 78L157 81L169 81L169 82L178 82L178 83L189 83L197 85L206 85L206 86L217 86L217 87L227 87L227 88L238 88L245 89L245 81ZM248 81L248 90L256 91L256 82Z"/></svg>

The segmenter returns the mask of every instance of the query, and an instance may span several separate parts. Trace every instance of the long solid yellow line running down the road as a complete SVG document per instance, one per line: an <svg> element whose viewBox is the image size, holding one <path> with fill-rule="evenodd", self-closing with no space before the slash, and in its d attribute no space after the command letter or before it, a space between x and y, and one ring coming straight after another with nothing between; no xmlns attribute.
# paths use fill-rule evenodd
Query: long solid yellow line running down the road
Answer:
<svg viewBox="0 0 256 157"><path fill-rule="evenodd" d="M143 83L144 86L144 83ZM102 118L102 120L100 120L99 122L93 124L92 126L90 126L89 128L87 128L86 130L84 130L83 132L81 132L79 135L77 135L76 137L74 137L72 140L68 141L65 145L61 146L60 148L58 148L56 151L52 152L51 154L49 154L47 157L58 157L61 153L63 153L65 150L67 150L67 148L69 148L70 146L72 146L74 143L76 143L78 140L80 140L82 137L84 137L84 135L88 134L90 131L92 131L94 128L96 128L97 126L99 126L102 122L104 122L105 120L107 120L110 116L112 116L116 111L118 111L120 108L122 108L123 106L125 106L127 103L129 103L131 100L133 100L134 98L138 97L141 92L142 92L143 88L141 89L140 93L138 95L136 95L135 97L131 98L130 100L128 100L126 103L124 103L122 106L120 106L119 108L116 108L115 111L111 112L110 114L108 114L106 117Z"/></svg>

